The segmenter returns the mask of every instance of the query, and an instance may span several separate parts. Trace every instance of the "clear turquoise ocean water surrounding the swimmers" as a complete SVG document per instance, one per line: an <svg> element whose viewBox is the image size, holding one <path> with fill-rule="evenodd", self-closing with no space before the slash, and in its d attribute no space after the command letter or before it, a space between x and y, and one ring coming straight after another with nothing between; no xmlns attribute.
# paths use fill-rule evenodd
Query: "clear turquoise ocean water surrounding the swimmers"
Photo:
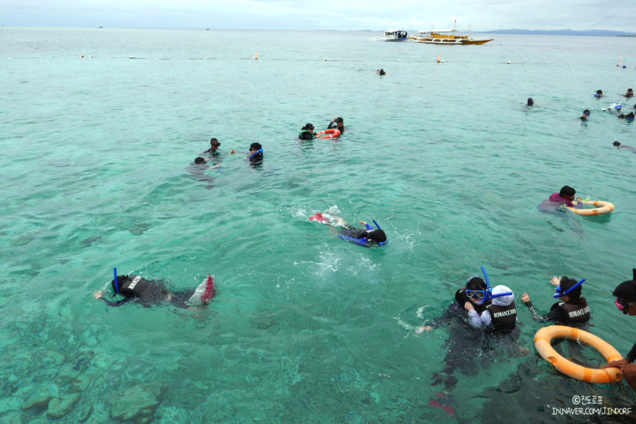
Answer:
<svg viewBox="0 0 636 424"><path fill-rule="evenodd" d="M636 266L636 155L612 146L635 130L604 110L636 88L631 39L378 35L0 28L1 421L628 422L554 413L633 393L552 370L519 298L547 312L551 276L586 278L590 331L623 354L634 342L611 291ZM334 117L340 139L297 139ZM223 162L192 175L211 137ZM227 154L253 142L262 165ZM565 184L616 210L539 213ZM308 220L332 206L377 220L388 245ZM531 353L471 350L453 417L430 405L452 331L414 329L481 265L514 291ZM175 290L212 273L218 296L200 312L108 307L93 293L114 266Z"/></svg>

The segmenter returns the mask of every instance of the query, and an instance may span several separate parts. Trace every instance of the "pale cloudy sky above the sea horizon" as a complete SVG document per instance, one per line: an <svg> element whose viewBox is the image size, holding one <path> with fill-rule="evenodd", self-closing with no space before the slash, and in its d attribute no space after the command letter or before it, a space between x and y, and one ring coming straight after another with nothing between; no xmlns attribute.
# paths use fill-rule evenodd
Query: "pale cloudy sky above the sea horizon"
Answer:
<svg viewBox="0 0 636 424"><path fill-rule="evenodd" d="M630 1L0 0L0 25L264 30L615 30Z"/></svg>

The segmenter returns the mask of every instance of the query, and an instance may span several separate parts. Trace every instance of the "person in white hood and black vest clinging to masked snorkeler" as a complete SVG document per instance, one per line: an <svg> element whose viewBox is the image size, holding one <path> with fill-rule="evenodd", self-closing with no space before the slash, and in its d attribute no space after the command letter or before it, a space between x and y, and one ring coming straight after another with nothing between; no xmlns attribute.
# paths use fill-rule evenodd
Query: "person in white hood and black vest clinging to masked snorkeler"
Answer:
<svg viewBox="0 0 636 424"><path fill-rule="evenodd" d="M514 305L514 293L505 285L497 285L488 293L488 305L480 314L470 302L464 307L469 312L469 322L473 327L492 326L495 331L512 331L517 324L517 307Z"/></svg>

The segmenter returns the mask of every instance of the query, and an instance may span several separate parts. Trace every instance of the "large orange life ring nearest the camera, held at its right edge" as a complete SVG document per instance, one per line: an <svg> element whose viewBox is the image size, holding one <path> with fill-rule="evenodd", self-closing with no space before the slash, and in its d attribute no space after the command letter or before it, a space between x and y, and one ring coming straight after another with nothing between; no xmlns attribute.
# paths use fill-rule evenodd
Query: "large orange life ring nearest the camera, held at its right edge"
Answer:
<svg viewBox="0 0 636 424"><path fill-rule="evenodd" d="M593 370L563 358L550 344L553 338L574 338L575 340L583 341L590 346L594 346L608 363L613 360L623 359L623 356L609 343L587 331L565 325L543 327L534 335L534 347L543 359L547 360L563 374L588 383L614 383L623 379L623 376L620 375L620 368L612 367Z"/></svg>

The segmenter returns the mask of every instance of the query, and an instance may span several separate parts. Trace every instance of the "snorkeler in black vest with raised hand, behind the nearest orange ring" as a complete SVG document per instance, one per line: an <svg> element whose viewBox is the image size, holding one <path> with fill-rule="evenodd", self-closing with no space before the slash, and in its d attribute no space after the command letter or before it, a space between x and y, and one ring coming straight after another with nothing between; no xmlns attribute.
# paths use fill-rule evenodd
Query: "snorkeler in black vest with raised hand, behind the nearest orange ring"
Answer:
<svg viewBox="0 0 636 424"><path fill-rule="evenodd" d="M532 319L536 321L557 321L565 325L587 324L590 318L589 306L587 305L587 300L581 297L582 283L584 281L585 279L577 282L567 276L553 277L550 283L556 286L554 297L560 298L560 301L555 302L550 307L550 312L546 315L536 312L528 293L522 295L522 302L528 307Z"/></svg>

